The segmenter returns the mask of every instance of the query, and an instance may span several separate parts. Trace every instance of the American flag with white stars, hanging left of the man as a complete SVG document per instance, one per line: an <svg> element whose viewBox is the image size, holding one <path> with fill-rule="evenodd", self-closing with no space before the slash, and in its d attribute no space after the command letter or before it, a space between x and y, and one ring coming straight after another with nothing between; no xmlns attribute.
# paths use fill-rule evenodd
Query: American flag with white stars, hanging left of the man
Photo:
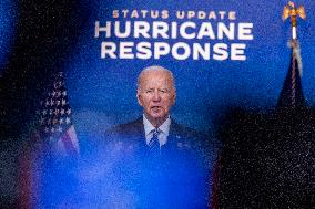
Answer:
<svg viewBox="0 0 315 209"><path fill-rule="evenodd" d="M79 142L72 124L71 107L64 85L63 73L54 76L52 86L45 93L37 111L40 138L47 140L49 149L57 155L80 153Z"/></svg>

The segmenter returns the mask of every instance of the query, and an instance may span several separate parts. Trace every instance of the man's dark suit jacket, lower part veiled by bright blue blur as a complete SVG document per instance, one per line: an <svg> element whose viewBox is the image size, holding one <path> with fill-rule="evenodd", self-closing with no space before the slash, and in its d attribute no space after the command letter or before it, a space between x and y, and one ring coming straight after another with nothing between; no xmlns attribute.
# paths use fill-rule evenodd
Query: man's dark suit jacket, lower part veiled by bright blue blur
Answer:
<svg viewBox="0 0 315 209"><path fill-rule="evenodd" d="M106 132L108 157L123 192L135 208L206 208L210 205L215 149L211 139L171 122L161 157L150 156L143 118ZM123 201L123 200L122 200Z"/></svg>

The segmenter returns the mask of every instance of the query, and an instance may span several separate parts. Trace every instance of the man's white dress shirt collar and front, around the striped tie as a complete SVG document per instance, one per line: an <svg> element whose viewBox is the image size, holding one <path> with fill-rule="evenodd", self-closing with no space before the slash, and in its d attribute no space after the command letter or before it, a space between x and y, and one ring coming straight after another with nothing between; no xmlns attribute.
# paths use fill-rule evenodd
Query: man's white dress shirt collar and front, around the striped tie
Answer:
<svg viewBox="0 0 315 209"><path fill-rule="evenodd" d="M152 130L154 130L155 127L149 122L149 119L146 119L144 114L143 114L143 125L144 125L144 133L145 133L145 142L146 142L146 145L149 145L151 138L153 137ZM158 136L160 147L167 143L170 126L171 126L171 118L169 115L165 122L158 128L160 130L160 134Z"/></svg>

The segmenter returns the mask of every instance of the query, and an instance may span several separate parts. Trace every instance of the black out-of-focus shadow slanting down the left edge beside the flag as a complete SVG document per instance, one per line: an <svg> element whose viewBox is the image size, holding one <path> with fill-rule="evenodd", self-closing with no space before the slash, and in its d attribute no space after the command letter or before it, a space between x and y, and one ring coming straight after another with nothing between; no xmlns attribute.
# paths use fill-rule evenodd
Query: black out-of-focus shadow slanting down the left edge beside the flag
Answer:
<svg viewBox="0 0 315 209"><path fill-rule="evenodd" d="M17 203L18 154L35 129L31 124L39 100L84 23L83 9L75 1L21 0L11 6L11 14L17 13L10 14L16 18L10 25L14 34L0 72L1 208Z"/></svg>

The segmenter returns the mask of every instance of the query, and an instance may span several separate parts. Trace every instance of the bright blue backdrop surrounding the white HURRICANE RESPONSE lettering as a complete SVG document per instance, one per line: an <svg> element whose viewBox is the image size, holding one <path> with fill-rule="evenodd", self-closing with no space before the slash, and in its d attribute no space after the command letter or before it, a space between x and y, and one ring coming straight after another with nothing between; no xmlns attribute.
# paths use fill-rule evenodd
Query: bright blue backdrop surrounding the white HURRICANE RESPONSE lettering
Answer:
<svg viewBox="0 0 315 209"><path fill-rule="evenodd" d="M73 48L67 69L67 86L73 108L74 123L80 133L103 132L105 128L136 118L141 108L136 103L135 83L140 71L150 65L162 65L170 69L176 80L177 100L172 109L173 117L182 124L200 130L211 129L215 121L230 107L245 107L268 111L276 105L289 64L291 40L289 20L283 22L283 7L287 1L94 1L85 7L85 24L80 28L80 39ZM298 19L298 40L302 46L303 90L308 104L313 105L314 76L313 64L315 31L312 11L315 2L297 1L306 9L306 20ZM126 18L113 18L113 10L128 9ZM102 27L105 21L155 21L150 17L131 18L132 10L169 10L167 19L158 19L171 23L173 21L253 23L253 40L176 40L165 39L119 39L104 33L94 38L95 21ZM183 19L171 15L175 11L235 11L236 19L221 20ZM245 61L217 60L176 60L172 55L160 59L101 59L101 42L122 41L150 43L245 43Z"/></svg>

